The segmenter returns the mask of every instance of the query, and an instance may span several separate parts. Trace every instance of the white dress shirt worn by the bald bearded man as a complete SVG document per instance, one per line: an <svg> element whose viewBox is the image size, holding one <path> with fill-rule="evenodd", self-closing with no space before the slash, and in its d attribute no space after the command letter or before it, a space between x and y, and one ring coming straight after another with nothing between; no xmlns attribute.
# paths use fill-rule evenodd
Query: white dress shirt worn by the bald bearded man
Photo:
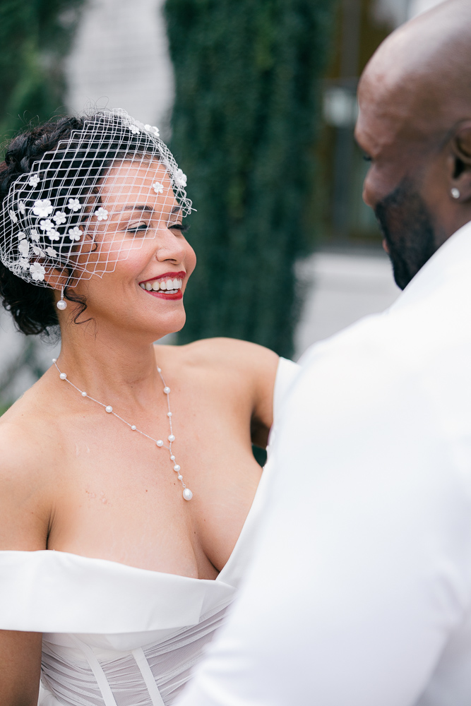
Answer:
<svg viewBox="0 0 471 706"><path fill-rule="evenodd" d="M179 706L470 706L471 223L302 364L254 559Z"/></svg>

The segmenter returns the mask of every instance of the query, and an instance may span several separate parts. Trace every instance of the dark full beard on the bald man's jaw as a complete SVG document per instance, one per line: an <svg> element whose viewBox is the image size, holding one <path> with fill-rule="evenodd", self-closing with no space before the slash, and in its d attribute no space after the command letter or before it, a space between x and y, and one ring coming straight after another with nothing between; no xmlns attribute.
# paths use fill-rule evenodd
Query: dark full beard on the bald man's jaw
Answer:
<svg viewBox="0 0 471 706"><path fill-rule="evenodd" d="M404 289L438 248L431 215L407 179L378 201L374 213L388 245L395 283Z"/></svg>

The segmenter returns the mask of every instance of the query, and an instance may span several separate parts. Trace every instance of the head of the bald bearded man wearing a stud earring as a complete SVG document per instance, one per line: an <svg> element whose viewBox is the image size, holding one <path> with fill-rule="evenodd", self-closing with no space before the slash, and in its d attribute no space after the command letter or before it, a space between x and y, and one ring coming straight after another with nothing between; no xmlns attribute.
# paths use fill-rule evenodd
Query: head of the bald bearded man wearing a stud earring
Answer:
<svg viewBox="0 0 471 706"><path fill-rule="evenodd" d="M356 137L401 289L471 220L471 2L448 0L393 32L359 84Z"/></svg>

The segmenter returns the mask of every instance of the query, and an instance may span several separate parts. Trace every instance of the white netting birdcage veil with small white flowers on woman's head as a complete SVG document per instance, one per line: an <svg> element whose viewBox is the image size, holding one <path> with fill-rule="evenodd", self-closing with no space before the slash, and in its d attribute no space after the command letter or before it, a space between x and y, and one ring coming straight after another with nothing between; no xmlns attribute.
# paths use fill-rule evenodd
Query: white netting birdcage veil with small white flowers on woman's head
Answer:
<svg viewBox="0 0 471 706"><path fill-rule="evenodd" d="M13 181L0 212L0 259L35 285L74 285L191 213L186 176L157 128L100 110Z"/></svg>

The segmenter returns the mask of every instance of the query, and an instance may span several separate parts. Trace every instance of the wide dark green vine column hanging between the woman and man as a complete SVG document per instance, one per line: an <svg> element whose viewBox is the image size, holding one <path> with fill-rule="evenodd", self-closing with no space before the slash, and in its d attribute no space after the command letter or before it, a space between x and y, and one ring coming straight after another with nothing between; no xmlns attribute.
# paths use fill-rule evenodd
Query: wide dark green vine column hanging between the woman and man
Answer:
<svg viewBox="0 0 471 706"><path fill-rule="evenodd" d="M225 335L290 356L333 0L167 0L173 148L198 266L180 342Z"/></svg>

